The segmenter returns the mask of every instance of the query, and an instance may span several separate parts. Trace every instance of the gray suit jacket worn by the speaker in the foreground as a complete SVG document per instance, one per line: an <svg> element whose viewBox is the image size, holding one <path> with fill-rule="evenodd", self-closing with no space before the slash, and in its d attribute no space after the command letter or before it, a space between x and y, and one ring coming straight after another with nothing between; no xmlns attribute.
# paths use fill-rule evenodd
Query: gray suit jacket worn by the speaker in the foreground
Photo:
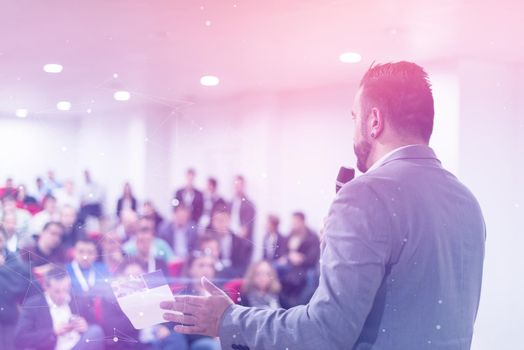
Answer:
<svg viewBox="0 0 524 350"><path fill-rule="evenodd" d="M337 194L309 304L229 307L222 349L469 349L484 242L471 192L431 148L400 149Z"/></svg>

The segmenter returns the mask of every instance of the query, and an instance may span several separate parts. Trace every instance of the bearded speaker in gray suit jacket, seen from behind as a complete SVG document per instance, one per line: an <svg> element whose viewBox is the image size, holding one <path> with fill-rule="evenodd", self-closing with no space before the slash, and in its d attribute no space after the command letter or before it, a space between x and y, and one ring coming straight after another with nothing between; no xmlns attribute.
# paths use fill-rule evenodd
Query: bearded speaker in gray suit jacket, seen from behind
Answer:
<svg viewBox="0 0 524 350"><path fill-rule="evenodd" d="M471 192L428 147L433 97L409 62L376 65L355 97L354 148L365 174L337 194L320 282L308 305L265 310L210 296L163 303L175 330L228 349L469 349L485 226Z"/></svg>

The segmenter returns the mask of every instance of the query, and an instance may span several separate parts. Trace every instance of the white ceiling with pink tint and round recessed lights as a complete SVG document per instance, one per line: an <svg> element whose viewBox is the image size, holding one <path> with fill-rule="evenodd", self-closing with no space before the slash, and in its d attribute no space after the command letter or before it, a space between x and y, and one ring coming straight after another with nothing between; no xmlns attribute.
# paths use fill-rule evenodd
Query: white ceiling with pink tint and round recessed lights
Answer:
<svg viewBox="0 0 524 350"><path fill-rule="evenodd" d="M112 110L118 88L176 105L325 85L374 60L524 62L523 14L518 0L0 0L0 114L55 115L64 99L66 114Z"/></svg>

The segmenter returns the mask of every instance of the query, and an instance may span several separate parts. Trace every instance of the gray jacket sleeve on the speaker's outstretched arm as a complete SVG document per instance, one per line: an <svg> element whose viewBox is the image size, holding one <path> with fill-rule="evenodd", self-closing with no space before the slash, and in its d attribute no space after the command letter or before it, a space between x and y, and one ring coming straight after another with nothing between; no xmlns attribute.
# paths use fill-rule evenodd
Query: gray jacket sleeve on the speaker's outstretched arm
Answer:
<svg viewBox="0 0 524 350"><path fill-rule="evenodd" d="M362 181L348 183L329 212L319 286L309 304L289 310L230 306L220 325L222 348L352 348L385 275L389 230L376 193Z"/></svg>

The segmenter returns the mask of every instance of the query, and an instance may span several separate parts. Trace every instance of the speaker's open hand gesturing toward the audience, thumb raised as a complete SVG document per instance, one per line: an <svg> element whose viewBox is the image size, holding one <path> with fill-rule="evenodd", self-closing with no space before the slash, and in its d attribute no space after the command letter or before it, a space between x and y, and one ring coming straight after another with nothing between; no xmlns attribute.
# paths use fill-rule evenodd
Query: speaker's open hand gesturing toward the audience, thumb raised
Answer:
<svg viewBox="0 0 524 350"><path fill-rule="evenodd" d="M171 312L164 314L166 321L181 323L175 326L175 331L178 333L217 337L222 315L234 303L226 293L207 278L202 277L201 282L210 295L177 295L175 301L163 301L160 307L164 310L178 312L177 314Z"/></svg>

